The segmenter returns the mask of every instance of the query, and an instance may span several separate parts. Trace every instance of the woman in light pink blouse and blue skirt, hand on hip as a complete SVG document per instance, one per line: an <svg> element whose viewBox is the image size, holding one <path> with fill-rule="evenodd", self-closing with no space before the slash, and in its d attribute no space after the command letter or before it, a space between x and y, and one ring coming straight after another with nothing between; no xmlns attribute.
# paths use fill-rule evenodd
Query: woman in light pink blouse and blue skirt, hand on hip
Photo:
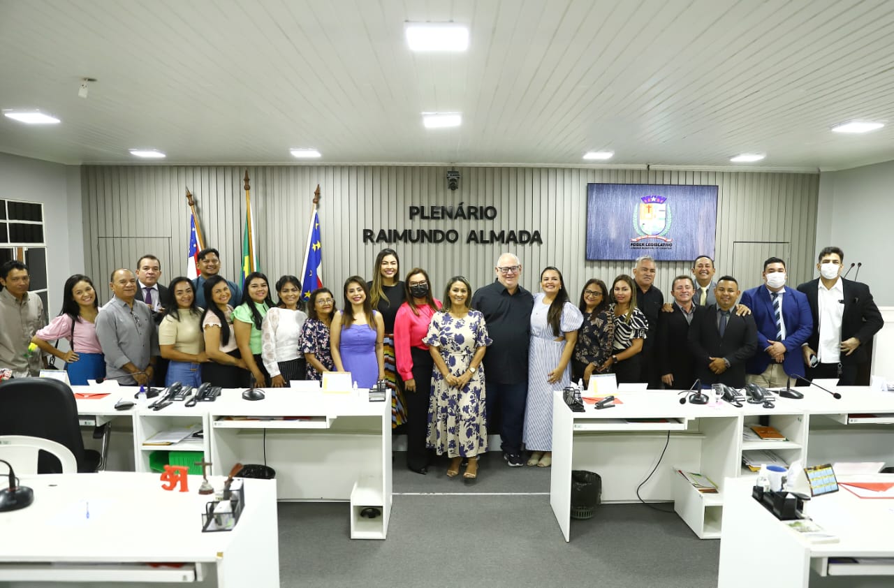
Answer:
<svg viewBox="0 0 894 588"><path fill-rule="evenodd" d="M62 299L62 311L31 342L65 362L72 386L86 386L88 380L105 377L105 359L94 324L99 303L93 281L75 273L65 281ZM71 349L63 351L48 342L58 339L67 339Z"/></svg>

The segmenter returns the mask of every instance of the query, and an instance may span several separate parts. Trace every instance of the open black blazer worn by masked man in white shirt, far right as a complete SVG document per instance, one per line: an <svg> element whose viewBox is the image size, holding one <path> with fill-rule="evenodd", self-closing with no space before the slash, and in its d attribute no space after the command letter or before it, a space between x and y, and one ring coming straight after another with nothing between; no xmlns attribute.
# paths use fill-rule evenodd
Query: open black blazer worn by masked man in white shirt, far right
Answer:
<svg viewBox="0 0 894 588"><path fill-rule="evenodd" d="M819 297L820 279L806 281L797 287L797 290L807 295L810 303L810 313L814 316L814 332L807 339L807 345L814 351L820 345L820 318ZM873 295L869 292L869 286L860 281L850 281L841 278L841 289L844 291L844 314L841 316L841 340L856 337L860 340L860 347L854 353L846 356L841 354L842 364L864 364L866 357L864 345L873 338L873 335L881 331L884 319L881 318L879 307L875 306Z"/></svg>

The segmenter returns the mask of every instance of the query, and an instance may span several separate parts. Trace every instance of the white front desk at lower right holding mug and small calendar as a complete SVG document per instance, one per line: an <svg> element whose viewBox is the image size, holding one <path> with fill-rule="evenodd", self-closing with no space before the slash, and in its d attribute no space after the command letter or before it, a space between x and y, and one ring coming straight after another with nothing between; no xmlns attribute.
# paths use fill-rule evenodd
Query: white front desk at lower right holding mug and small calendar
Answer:
<svg viewBox="0 0 894 588"><path fill-rule="evenodd" d="M805 513L839 536L836 543L814 544L752 499L753 485L753 480L743 478L725 484L720 588L894 584L894 565L868 570L867 565L829 562L829 558L894 558L894 500L861 500L844 488L810 500ZM873 576L864 575L869 571Z"/></svg>

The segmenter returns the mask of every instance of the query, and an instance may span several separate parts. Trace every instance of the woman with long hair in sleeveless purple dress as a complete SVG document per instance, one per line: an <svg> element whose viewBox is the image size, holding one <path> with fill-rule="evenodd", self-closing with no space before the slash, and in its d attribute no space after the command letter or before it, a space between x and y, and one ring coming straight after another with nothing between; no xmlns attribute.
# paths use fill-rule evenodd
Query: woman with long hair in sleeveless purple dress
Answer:
<svg viewBox="0 0 894 588"><path fill-rule="evenodd" d="M344 310L333 317L330 346L335 369L350 372L358 388L384 380L384 321L369 303L367 282L358 275L344 282Z"/></svg>

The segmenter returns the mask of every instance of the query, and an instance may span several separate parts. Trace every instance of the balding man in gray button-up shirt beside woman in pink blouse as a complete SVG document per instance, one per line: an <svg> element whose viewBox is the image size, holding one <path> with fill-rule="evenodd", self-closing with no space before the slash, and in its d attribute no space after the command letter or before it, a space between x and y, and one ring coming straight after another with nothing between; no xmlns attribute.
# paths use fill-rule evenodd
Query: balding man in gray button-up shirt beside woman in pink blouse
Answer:
<svg viewBox="0 0 894 588"><path fill-rule="evenodd" d="M114 296L97 315L97 338L105 355L105 377L122 384L152 382L158 333L149 307L135 300L137 277L127 269L112 273ZM120 377L124 376L124 377Z"/></svg>

